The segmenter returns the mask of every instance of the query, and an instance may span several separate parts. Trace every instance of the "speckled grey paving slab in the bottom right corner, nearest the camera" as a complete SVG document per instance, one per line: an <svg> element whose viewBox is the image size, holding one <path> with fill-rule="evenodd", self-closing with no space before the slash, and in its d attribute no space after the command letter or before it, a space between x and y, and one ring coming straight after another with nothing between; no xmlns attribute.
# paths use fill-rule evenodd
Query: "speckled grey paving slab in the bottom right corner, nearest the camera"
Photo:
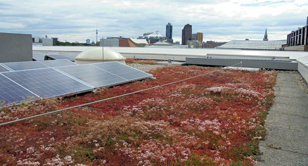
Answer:
<svg viewBox="0 0 308 166"><path fill-rule="evenodd" d="M308 155L260 146L262 161L255 166L307 166Z"/></svg>

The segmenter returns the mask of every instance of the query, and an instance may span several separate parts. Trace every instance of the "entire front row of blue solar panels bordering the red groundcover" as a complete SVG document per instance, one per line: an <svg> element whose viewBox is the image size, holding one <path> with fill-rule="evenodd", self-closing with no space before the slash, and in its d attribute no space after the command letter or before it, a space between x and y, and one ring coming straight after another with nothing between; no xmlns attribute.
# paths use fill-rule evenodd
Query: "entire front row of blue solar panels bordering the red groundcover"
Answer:
<svg viewBox="0 0 308 166"><path fill-rule="evenodd" d="M152 76L119 62L1 72L0 101L21 103L27 96L66 96Z"/></svg>

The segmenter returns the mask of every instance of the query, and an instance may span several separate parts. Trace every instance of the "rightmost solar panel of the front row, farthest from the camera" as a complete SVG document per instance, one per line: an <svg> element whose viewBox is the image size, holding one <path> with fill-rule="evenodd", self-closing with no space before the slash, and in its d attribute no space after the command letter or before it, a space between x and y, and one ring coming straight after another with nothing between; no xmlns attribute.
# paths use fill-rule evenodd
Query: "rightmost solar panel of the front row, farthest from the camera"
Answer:
<svg viewBox="0 0 308 166"><path fill-rule="evenodd" d="M153 76L151 74L137 70L133 67L129 67L123 63L116 61L105 63L92 63L91 65L131 81L151 78Z"/></svg>

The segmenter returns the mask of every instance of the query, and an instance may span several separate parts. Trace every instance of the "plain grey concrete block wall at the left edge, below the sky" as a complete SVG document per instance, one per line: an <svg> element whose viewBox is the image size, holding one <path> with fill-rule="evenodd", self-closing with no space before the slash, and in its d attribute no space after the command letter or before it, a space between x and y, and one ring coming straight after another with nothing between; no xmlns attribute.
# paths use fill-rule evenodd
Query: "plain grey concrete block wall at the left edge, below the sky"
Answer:
<svg viewBox="0 0 308 166"><path fill-rule="evenodd" d="M0 63L32 61L32 35L0 33Z"/></svg>

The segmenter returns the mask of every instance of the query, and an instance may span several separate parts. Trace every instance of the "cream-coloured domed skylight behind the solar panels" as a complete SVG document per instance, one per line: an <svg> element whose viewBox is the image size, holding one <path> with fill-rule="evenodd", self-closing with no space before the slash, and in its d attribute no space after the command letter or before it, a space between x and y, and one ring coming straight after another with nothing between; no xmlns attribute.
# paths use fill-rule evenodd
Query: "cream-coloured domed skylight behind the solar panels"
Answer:
<svg viewBox="0 0 308 166"><path fill-rule="evenodd" d="M104 62L119 61L125 64L125 57L119 52L110 48L104 48ZM103 62L103 47L90 48L82 51L75 57L75 63L87 64L87 63L100 63Z"/></svg>

